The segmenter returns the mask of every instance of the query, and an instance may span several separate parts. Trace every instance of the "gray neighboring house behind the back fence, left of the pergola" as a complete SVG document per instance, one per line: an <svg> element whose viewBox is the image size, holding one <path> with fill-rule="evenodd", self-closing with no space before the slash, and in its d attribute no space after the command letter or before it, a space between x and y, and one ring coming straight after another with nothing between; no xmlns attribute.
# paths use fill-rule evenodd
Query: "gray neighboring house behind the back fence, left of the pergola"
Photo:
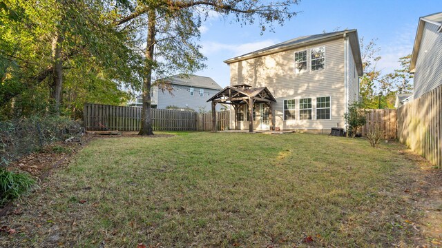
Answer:
<svg viewBox="0 0 442 248"><path fill-rule="evenodd" d="M165 109L173 106L180 109L207 112L211 110L210 103L206 103L207 99L222 89L218 83L207 76L189 75L184 77L175 75L169 77L166 81L170 83L171 92L152 87L152 107ZM142 106L142 96L137 96L136 101L129 105ZM217 110L221 108L220 105Z"/></svg>

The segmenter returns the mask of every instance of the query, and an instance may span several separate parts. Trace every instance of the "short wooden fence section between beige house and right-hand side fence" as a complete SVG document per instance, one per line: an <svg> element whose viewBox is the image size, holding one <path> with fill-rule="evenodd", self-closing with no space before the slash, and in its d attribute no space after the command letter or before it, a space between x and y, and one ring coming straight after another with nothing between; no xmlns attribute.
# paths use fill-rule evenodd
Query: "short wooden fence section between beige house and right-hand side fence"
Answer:
<svg viewBox="0 0 442 248"><path fill-rule="evenodd" d="M370 129L379 126L384 139L396 139L397 115L396 110L367 110L367 123L362 127L362 135L365 136Z"/></svg>

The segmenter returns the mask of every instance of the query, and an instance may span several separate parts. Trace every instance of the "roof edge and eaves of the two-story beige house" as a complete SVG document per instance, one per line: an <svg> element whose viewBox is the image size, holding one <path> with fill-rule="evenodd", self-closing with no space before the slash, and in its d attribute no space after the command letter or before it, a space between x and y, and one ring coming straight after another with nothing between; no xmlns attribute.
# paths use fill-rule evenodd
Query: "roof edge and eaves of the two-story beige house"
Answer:
<svg viewBox="0 0 442 248"><path fill-rule="evenodd" d="M290 50L293 48L298 48L298 47L305 46L305 45L311 45L314 43L320 43L323 41L328 41L328 40L336 39L338 37L345 37L345 36L349 37L350 45L352 48L352 53L353 53L354 60L356 63L356 68L358 70L358 75L362 76L363 69L362 69L362 59L361 59L361 48L359 47L358 31L356 29L298 37L295 39L291 39L289 41L284 41L282 43L278 43L276 45L271 45L267 48L262 48L260 50L254 51L254 52L242 54L242 55L236 56L232 59L227 59L224 61L224 63L230 64L233 62L243 61L245 59L252 59L252 58L256 58L258 56L273 54L276 52L282 52L285 50Z"/></svg>

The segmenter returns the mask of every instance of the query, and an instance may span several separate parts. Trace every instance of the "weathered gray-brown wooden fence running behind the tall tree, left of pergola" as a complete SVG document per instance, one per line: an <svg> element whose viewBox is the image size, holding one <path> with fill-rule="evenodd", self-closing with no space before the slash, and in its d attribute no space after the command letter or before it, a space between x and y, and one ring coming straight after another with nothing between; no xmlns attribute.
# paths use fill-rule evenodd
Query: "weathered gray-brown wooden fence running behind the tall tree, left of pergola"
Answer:
<svg viewBox="0 0 442 248"><path fill-rule="evenodd" d="M86 103L83 110L84 127L88 131L138 131L141 107L126 107ZM154 131L211 131L211 114L193 111L152 109ZM229 111L217 112L218 130L229 126Z"/></svg>

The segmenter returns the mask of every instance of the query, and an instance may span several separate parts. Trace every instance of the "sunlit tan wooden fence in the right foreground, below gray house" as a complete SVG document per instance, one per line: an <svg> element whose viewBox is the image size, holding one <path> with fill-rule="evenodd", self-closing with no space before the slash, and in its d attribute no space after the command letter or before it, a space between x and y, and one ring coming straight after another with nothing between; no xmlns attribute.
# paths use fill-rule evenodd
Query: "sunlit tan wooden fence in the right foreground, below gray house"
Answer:
<svg viewBox="0 0 442 248"><path fill-rule="evenodd" d="M442 85L398 109L398 139L442 167Z"/></svg>

